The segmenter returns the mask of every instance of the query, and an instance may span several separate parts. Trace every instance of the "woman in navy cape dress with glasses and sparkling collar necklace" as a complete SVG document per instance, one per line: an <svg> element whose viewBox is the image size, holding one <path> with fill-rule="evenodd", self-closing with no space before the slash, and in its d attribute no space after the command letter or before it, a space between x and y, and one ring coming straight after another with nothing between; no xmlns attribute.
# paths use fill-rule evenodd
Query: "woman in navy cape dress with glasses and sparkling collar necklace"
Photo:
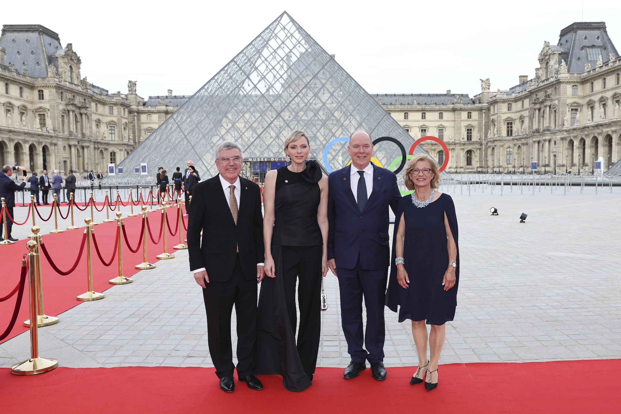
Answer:
<svg viewBox="0 0 621 414"><path fill-rule="evenodd" d="M415 190L399 202L392 245L392 268L386 304L399 309L399 322L412 320L412 336L419 367L410 384L438 385L438 360L446 338L445 323L455 317L460 259L455 204L448 194L435 191L440 184L438 164L417 154L404 173L406 186ZM427 326L430 358L427 359Z"/></svg>

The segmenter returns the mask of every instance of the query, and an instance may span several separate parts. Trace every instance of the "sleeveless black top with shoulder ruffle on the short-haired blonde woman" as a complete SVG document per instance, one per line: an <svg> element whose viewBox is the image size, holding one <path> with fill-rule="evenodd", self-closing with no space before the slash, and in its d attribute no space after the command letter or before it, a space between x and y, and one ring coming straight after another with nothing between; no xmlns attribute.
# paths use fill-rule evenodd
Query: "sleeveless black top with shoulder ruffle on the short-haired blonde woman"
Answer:
<svg viewBox="0 0 621 414"><path fill-rule="evenodd" d="M274 194L273 246L324 244L317 222L321 177L321 169L316 161L306 163L306 169L301 173L289 171L286 166L278 169Z"/></svg>

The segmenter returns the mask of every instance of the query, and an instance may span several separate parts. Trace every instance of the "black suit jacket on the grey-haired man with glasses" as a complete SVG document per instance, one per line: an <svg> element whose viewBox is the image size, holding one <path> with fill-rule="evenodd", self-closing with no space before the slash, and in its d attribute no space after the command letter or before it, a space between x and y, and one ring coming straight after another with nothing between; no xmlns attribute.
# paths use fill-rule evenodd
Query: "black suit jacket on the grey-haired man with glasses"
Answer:
<svg viewBox="0 0 621 414"><path fill-rule="evenodd" d="M190 270L205 268L210 282L230 279L235 267L236 246L239 246L239 259L247 280L256 280L256 264L265 261L261 190L255 182L242 177L240 186L237 225L219 176L194 186L188 222Z"/></svg>

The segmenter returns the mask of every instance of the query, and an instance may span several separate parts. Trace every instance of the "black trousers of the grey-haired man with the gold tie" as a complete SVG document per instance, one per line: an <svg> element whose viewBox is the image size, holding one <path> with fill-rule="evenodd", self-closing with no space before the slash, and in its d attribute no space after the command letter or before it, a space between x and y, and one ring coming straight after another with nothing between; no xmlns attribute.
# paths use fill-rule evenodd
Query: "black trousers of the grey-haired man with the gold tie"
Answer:
<svg viewBox="0 0 621 414"><path fill-rule="evenodd" d="M209 276L209 275L207 275ZM239 257L226 282L210 281L202 290L207 312L209 353L218 378L232 376L231 312L237 316L237 376L247 377L256 365L256 279L243 277Z"/></svg>

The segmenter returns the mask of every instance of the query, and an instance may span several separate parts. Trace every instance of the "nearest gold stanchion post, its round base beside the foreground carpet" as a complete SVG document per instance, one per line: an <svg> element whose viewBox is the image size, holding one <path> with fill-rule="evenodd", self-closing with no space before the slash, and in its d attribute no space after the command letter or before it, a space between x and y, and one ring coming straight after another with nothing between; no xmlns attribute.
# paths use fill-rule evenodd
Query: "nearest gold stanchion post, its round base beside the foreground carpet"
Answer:
<svg viewBox="0 0 621 414"><path fill-rule="evenodd" d="M26 243L27 248L30 250L28 253L28 279L30 284L30 320L35 320L37 317L37 292L39 292L39 288L37 287L37 253L35 253L35 249L37 248L37 242L34 240L30 240ZM42 372L51 371L55 367L58 366L58 360L52 358L41 358L39 356L39 334L37 331L37 324L33 323L30 325L30 358L26 359L24 362L19 362L11 367L11 374L17 375L32 375L32 374L41 374Z"/></svg>

